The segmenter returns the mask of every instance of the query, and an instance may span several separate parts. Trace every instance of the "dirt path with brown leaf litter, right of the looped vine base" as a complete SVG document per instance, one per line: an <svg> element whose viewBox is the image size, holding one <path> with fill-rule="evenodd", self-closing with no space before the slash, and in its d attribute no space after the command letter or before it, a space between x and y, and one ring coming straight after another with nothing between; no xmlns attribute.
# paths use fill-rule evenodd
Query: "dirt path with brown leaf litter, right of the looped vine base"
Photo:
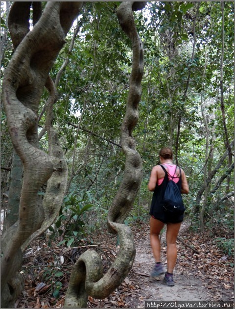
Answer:
<svg viewBox="0 0 235 309"><path fill-rule="evenodd" d="M90 298L91 307L144 308L145 301L148 300L233 301L233 257L225 256L216 246L215 237L211 236L212 231L190 231L189 226L186 219L179 232L179 238L184 243L177 240L175 285L169 287L163 283L164 275L159 281L150 277L155 260L150 247L149 224L132 225L136 244L133 267L124 282L109 297L102 301ZM166 266L165 232L161 238L162 261Z"/></svg>

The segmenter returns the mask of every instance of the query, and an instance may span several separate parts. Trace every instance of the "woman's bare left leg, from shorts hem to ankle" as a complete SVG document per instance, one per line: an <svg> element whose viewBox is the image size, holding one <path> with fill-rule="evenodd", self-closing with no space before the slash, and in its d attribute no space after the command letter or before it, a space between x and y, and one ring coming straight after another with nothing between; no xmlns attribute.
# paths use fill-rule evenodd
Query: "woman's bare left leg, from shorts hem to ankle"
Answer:
<svg viewBox="0 0 235 309"><path fill-rule="evenodd" d="M159 234L164 227L164 223L150 217L150 244L156 262L161 261L161 243Z"/></svg>

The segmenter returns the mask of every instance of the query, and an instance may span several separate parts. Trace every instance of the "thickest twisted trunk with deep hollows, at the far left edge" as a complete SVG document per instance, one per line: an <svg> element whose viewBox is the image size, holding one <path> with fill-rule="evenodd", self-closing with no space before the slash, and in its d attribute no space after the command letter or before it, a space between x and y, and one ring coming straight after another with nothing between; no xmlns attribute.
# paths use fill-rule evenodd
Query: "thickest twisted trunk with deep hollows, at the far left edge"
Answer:
<svg viewBox="0 0 235 309"><path fill-rule="evenodd" d="M19 219L2 235L1 240L2 307L8 307L15 297L17 283L11 284L11 280L21 267L21 246L44 221L44 208L38 191L52 173L58 171L58 167L65 169L60 157L55 162L50 156L60 152L56 148L58 141L52 129L50 134L55 147L51 147L50 154L38 147L38 110L49 70L82 8L82 2L48 2L40 18L38 2L33 5L36 14L32 31L29 31L28 24L31 2L15 2L9 16L9 28L16 50L4 73L2 98L13 147L23 162L24 180ZM55 166L57 163L58 166Z"/></svg>

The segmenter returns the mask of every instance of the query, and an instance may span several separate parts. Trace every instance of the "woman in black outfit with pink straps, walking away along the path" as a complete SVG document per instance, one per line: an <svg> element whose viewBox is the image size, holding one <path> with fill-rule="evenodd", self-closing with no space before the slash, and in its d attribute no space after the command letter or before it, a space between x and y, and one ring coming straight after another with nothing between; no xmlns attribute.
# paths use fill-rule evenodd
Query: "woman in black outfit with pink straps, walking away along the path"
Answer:
<svg viewBox="0 0 235 309"><path fill-rule="evenodd" d="M173 286L173 270L177 258L176 238L180 230L184 214L171 214L164 211L163 197L168 180L172 179L181 193L188 194L188 181L185 172L173 164L173 152L170 148L164 147L160 153L160 164L153 167L148 182L148 189L154 191L152 204L150 207L150 244L156 264L151 272L151 277L155 278L165 273L164 283ZM159 234L166 224L166 244L167 244L167 271L161 263L161 244Z"/></svg>

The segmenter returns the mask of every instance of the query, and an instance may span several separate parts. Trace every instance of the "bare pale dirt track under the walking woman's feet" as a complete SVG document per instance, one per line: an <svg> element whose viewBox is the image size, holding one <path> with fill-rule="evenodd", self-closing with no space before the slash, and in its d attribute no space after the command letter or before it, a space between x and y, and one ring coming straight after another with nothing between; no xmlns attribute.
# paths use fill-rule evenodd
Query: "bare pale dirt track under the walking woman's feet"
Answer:
<svg viewBox="0 0 235 309"><path fill-rule="evenodd" d="M180 234L187 229L187 223L182 225ZM143 237L140 241L140 235L136 235L136 258L133 264L132 272L129 276L130 280L137 282L137 287L140 288L138 293L138 302L134 308L144 308L144 301L146 300L162 300L162 301L199 301L209 300L205 286L199 278L196 278L188 268L183 268L176 264L174 270L175 285L169 287L163 283L163 277L157 281L152 279L149 274L155 263L149 243L149 232L144 231ZM166 248L165 248L165 232L162 235L162 260L166 265ZM178 242L178 247L184 245ZM180 251L180 250L179 250ZM178 252L178 258L181 258L181 253ZM134 300L133 300L134 301ZM132 308L132 307L130 307Z"/></svg>

